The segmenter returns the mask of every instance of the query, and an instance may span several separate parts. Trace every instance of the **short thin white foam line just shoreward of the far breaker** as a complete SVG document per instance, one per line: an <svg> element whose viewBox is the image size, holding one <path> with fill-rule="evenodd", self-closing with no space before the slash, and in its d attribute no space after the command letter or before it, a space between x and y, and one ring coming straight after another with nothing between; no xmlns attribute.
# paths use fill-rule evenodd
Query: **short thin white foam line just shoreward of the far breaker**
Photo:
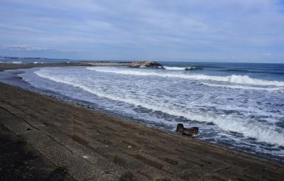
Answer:
<svg viewBox="0 0 284 181"><path fill-rule="evenodd" d="M226 87L230 89L251 89L251 90L264 90L264 91L280 91L284 90L284 87L253 87L253 86L246 86L246 85L233 85L233 84L211 84L206 82L201 82L204 85L210 87Z"/></svg>

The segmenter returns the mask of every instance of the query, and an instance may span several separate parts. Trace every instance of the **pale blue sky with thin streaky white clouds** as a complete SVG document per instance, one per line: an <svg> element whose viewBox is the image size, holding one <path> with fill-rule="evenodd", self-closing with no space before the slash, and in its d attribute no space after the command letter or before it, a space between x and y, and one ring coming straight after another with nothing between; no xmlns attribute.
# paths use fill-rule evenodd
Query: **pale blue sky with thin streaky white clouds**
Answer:
<svg viewBox="0 0 284 181"><path fill-rule="evenodd" d="M0 0L0 56L284 63L284 1Z"/></svg>

